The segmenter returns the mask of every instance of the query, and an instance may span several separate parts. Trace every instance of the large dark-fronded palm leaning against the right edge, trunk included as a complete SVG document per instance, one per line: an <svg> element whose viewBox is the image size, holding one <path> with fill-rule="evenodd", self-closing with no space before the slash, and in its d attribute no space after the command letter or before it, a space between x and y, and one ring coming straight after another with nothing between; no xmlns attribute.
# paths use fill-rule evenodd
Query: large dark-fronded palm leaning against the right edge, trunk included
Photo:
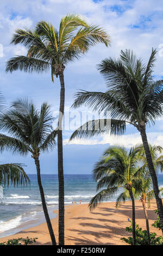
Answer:
<svg viewBox="0 0 163 256"><path fill-rule="evenodd" d="M160 217L163 234L163 207L159 197L158 180L149 150L146 126L154 124L154 120L163 113L163 80L153 81L152 71L155 63L156 50L152 49L148 64L136 58L133 51L121 51L120 58L106 58L98 65L98 70L104 76L107 84L105 93L79 92L73 107L89 106L95 111L111 113L111 119L92 120L79 127L73 138L86 138L101 133L110 132L121 135L126 130L126 124L133 125L142 138L149 172L152 176L153 190ZM100 127L102 122L103 127Z"/></svg>

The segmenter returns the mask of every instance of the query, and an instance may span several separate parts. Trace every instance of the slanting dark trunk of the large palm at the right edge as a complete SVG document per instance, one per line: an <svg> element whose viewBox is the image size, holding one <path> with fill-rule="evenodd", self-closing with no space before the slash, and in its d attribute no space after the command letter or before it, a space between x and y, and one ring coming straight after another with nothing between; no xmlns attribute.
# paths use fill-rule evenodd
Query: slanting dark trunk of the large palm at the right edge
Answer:
<svg viewBox="0 0 163 256"><path fill-rule="evenodd" d="M160 217L160 225L161 225L161 230L162 230L162 235L163 235L163 206L162 206L162 200L159 197L160 191L159 191L159 186L158 186L158 179L157 179L155 169L153 166L151 152L149 150L146 129L143 126L139 126L139 131L141 134L143 147L144 147L145 153L146 153L146 159L147 159L147 163L148 163L149 172L151 174L151 178L152 178L152 182L153 182L153 191L155 194L156 204L158 207L158 214Z"/></svg>

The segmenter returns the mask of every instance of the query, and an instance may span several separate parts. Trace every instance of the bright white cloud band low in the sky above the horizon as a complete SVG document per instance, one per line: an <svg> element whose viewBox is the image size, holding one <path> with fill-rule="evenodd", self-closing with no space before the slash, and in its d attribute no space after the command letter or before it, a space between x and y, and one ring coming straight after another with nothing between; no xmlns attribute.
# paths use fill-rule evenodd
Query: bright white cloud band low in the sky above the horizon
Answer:
<svg viewBox="0 0 163 256"><path fill-rule="evenodd" d="M163 132L147 132L148 142L151 144L161 145L163 147ZM74 139L68 142L69 139L64 139L64 145L66 144L78 144L78 145L123 145L126 148L134 147L136 144L142 143L140 133L134 133L129 135L122 135L120 137L114 137L110 135L102 135L96 139Z"/></svg>

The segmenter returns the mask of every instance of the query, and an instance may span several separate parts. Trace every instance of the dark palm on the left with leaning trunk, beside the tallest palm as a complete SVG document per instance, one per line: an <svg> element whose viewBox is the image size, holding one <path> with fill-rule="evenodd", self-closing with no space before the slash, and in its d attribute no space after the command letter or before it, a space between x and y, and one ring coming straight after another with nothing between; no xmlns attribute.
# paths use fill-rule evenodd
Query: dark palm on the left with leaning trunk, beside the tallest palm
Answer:
<svg viewBox="0 0 163 256"><path fill-rule="evenodd" d="M45 195L41 183L40 161L41 153L52 149L55 144L56 131L52 129L50 106L44 102L40 111L32 101L19 99L12 108L1 117L1 129L10 136L1 134L1 144L13 153L32 154L37 170L37 182L40 189L43 212L46 218L52 245L56 245L51 220L48 215Z"/></svg>

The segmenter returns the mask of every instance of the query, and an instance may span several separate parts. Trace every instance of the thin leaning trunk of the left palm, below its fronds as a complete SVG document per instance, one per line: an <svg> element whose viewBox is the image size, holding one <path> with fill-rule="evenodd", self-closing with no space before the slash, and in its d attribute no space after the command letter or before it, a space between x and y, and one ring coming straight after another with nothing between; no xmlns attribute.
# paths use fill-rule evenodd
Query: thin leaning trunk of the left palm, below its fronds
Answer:
<svg viewBox="0 0 163 256"><path fill-rule="evenodd" d="M47 223L47 226L48 226L49 234L51 236L52 245L57 245L57 243L55 241L53 228L52 228L52 223L51 223L51 220L50 220L49 215L48 215L48 210L47 210L46 201L45 201L45 195L44 195L43 187L42 187L42 183L41 183L39 157L34 157L34 160L35 160L36 169L37 169L37 182L38 182L38 185L39 185L43 212L44 212L44 215L45 215L45 218L46 218L46 223Z"/></svg>

